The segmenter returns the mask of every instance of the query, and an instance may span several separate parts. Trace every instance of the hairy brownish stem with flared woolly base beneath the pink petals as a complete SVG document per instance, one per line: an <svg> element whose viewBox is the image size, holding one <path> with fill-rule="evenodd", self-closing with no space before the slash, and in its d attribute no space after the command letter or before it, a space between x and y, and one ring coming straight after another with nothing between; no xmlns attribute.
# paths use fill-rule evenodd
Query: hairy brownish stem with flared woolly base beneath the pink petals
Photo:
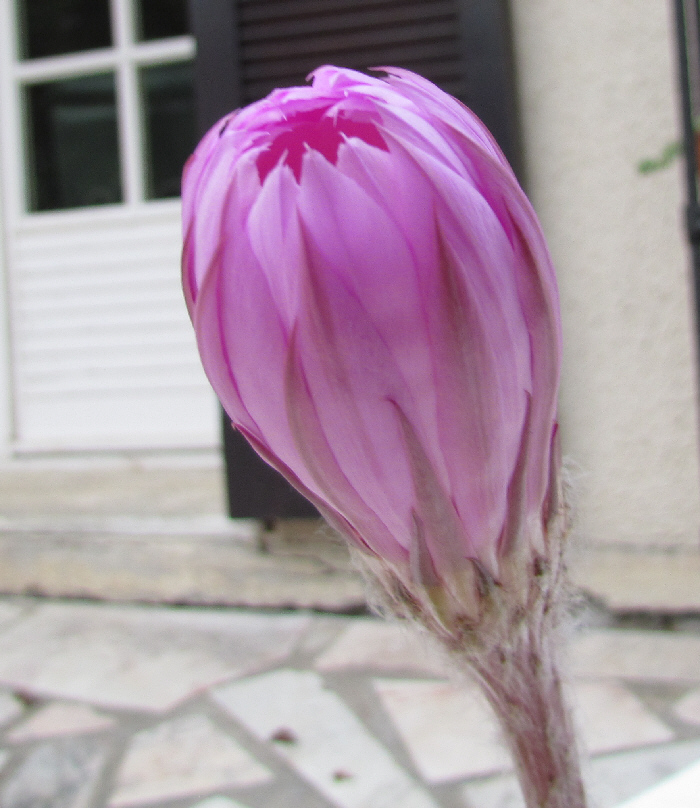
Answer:
<svg viewBox="0 0 700 808"><path fill-rule="evenodd" d="M568 517L560 504L539 543L512 549L495 581L482 567L441 586L357 553L384 614L427 629L480 684L510 747L527 808L586 808L578 748L559 674ZM471 586L471 591L470 591Z"/></svg>

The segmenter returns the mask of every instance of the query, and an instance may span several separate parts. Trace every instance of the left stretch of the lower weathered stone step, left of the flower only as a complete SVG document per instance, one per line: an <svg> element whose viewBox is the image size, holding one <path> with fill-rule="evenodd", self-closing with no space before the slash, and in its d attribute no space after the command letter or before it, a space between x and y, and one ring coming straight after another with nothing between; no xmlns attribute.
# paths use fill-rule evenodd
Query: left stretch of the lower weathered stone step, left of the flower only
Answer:
<svg viewBox="0 0 700 808"><path fill-rule="evenodd" d="M308 520L307 520L308 521ZM0 592L192 605L365 608L344 545L316 523L245 537L147 529L0 530ZM184 527L184 526L183 526Z"/></svg>

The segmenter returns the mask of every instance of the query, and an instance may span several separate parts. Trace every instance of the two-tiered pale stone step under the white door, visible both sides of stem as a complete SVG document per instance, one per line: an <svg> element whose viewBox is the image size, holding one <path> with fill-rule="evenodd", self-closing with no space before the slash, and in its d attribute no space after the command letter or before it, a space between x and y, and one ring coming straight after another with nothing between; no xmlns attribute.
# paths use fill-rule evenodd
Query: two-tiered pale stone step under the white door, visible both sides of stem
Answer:
<svg viewBox="0 0 700 808"><path fill-rule="evenodd" d="M320 524L227 519L215 453L16 461L0 467L0 592L363 610L359 576ZM583 544L570 570L609 611L700 613L700 547Z"/></svg>

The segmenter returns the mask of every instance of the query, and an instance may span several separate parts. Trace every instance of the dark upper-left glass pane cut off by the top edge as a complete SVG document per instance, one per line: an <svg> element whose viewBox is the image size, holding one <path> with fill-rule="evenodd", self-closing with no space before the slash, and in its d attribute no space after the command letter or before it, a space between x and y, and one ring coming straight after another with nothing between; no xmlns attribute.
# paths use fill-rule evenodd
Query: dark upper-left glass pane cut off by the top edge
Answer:
<svg viewBox="0 0 700 808"><path fill-rule="evenodd" d="M24 59L107 48L109 0L17 0Z"/></svg>

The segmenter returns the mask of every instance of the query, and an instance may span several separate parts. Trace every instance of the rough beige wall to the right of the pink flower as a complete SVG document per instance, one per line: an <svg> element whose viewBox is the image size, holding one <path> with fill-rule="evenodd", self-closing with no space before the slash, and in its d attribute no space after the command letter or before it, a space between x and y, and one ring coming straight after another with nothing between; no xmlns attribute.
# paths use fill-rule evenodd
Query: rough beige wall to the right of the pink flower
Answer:
<svg viewBox="0 0 700 808"><path fill-rule="evenodd" d="M671 4L512 0L529 191L560 278L585 540L696 545L697 394Z"/></svg>

